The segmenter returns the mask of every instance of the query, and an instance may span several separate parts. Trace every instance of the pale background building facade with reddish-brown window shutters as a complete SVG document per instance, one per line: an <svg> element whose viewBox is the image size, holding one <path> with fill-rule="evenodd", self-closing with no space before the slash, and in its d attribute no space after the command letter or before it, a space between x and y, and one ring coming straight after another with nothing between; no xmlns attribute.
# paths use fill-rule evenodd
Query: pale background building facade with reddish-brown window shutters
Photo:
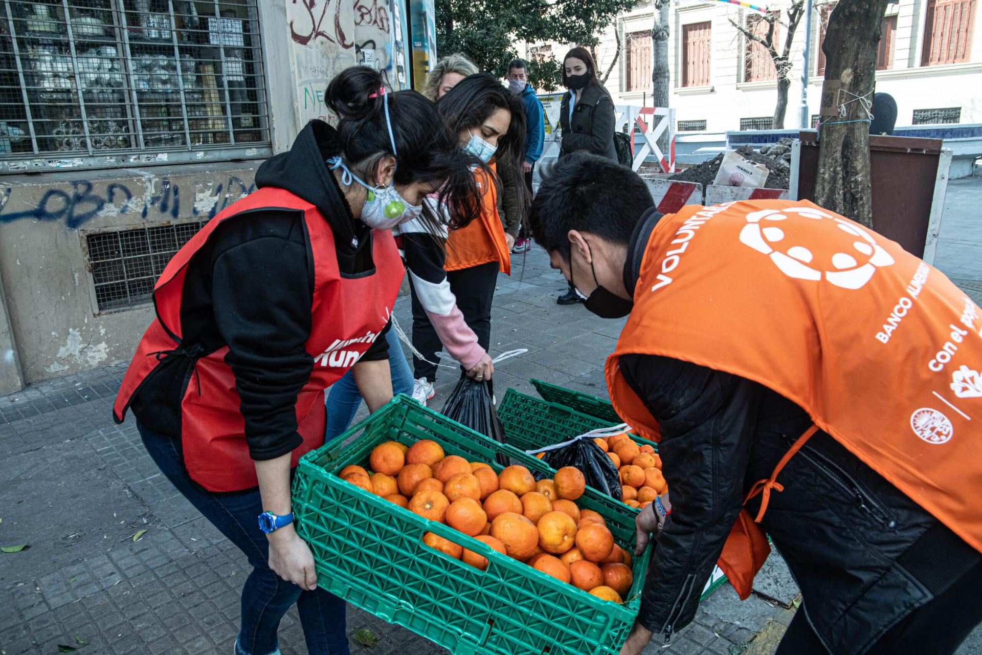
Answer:
<svg viewBox="0 0 982 655"><path fill-rule="evenodd" d="M978 4L979 0L898 0L888 5L875 90L890 93L897 100L898 126L982 123L982 21L978 19ZM779 51L787 36L790 5L789 0L767 3L768 11L779 15L775 39ZM819 111L825 67L821 44L834 6L834 2L814 2L807 63L810 125L814 125ZM598 69L601 75L610 70L607 88L621 102L652 104L653 20L651 3L642 0L604 32L596 48ZM733 23L754 33L766 30L760 14L732 4L698 0L671 4L670 106L677 110L679 133L771 127L777 101L774 64L764 48ZM802 127L804 35L802 18L791 47L786 128ZM557 44L545 47L556 57L565 52ZM526 53L531 56L542 48L529 47Z"/></svg>

